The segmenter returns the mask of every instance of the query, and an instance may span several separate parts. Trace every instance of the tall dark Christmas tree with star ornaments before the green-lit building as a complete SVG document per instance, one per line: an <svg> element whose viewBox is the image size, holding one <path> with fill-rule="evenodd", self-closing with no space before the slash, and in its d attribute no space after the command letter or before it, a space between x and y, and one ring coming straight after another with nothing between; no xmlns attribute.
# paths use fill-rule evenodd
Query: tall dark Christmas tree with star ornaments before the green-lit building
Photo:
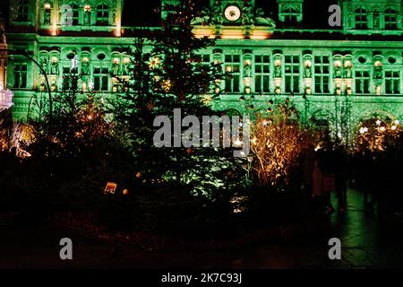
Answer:
<svg viewBox="0 0 403 287"><path fill-rule="evenodd" d="M200 122L202 116L213 115L210 102L219 94L217 83L224 76L220 63L206 64L201 59L202 49L214 45L214 40L194 36L191 22L201 11L193 1L166 4L165 9L171 13L161 30L133 32L139 39L132 49L130 77L117 77L124 92L114 104L114 113L128 126L146 180L162 177L181 185L200 187L208 182L211 188L222 187L219 178L230 169L226 151L201 147L201 143L182 145L184 128L164 138L164 147L156 147L153 141L159 129L155 118L167 116L174 123L174 109L180 109L181 118L192 115Z"/></svg>

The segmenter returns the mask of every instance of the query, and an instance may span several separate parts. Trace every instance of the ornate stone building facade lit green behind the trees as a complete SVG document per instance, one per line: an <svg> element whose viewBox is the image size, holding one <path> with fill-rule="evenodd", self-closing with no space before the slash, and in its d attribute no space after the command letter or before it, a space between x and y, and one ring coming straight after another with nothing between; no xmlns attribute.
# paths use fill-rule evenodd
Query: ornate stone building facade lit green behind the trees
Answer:
<svg viewBox="0 0 403 287"><path fill-rule="evenodd" d="M162 0L163 20L167 2L175 3ZM278 13L270 15L255 0L210 0L194 19L196 36L217 39L202 51L203 61L232 73L220 83L215 107L250 113L289 98L302 120L345 142L364 119L403 120L400 0L339 0L341 27L330 26L328 9L307 11L303 0L272 2ZM123 0L11 0L10 7L9 48L30 53L53 92L73 67L83 72L83 91L113 96L117 86L108 72L127 72L124 47L133 43L122 27ZM305 25L315 13L326 16L322 28ZM44 77L27 57L10 56L8 66L13 114L24 118L32 97L46 92Z"/></svg>

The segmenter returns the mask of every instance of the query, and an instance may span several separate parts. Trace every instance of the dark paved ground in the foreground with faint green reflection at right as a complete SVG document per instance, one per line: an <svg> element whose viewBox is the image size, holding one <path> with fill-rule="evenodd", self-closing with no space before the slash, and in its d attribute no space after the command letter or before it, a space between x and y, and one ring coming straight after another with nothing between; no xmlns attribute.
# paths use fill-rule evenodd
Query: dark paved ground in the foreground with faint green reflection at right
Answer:
<svg viewBox="0 0 403 287"><path fill-rule="evenodd" d="M332 213L329 230L282 245L215 253L146 253L116 247L72 231L0 227L0 268L387 268L403 267L403 224L366 212L364 197L350 190L346 213ZM59 239L73 239L73 261L59 259ZM342 260L328 257L328 240L342 243Z"/></svg>

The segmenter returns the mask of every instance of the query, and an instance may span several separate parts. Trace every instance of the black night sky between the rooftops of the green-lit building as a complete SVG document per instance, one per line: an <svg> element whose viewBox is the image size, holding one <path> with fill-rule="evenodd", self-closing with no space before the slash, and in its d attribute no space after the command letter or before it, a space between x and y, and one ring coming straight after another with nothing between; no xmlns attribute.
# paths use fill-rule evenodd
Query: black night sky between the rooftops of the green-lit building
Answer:
<svg viewBox="0 0 403 287"><path fill-rule="evenodd" d="M210 0L195 0L202 4L209 4ZM337 4L337 0L304 0L304 27L326 28L328 26L328 8L330 4ZM277 0L256 0L256 5L265 8L268 15L278 22ZM124 1L123 26L159 25L159 13L155 9L160 7L160 0Z"/></svg>

